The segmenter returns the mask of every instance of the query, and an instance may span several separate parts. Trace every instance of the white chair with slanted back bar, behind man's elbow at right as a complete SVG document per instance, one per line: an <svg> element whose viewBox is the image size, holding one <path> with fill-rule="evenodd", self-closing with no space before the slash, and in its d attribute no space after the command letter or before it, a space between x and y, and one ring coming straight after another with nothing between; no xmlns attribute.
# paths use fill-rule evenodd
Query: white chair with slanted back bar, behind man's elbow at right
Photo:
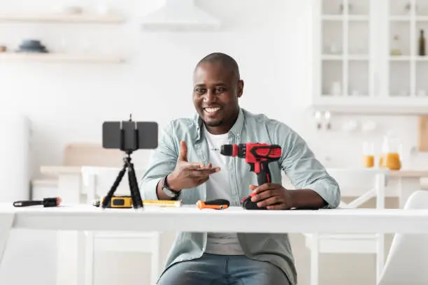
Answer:
<svg viewBox="0 0 428 285"><path fill-rule="evenodd" d="M376 198L376 208L385 207L385 176L380 169L329 169L341 189L343 197L357 197L350 203L341 201L339 207L357 208L371 198ZM306 247L311 250L311 285L318 285L319 254L376 254L376 279L384 264L383 234L305 234Z"/></svg>

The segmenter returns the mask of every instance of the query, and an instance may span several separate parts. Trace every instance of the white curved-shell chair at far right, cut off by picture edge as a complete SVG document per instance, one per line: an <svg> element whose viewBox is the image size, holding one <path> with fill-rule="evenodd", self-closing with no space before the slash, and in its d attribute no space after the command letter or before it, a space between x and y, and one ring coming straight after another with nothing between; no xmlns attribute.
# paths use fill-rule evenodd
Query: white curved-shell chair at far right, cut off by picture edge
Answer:
<svg viewBox="0 0 428 285"><path fill-rule="evenodd" d="M416 191L404 210L428 209L428 192ZM378 285L428 284L428 235L396 233Z"/></svg>

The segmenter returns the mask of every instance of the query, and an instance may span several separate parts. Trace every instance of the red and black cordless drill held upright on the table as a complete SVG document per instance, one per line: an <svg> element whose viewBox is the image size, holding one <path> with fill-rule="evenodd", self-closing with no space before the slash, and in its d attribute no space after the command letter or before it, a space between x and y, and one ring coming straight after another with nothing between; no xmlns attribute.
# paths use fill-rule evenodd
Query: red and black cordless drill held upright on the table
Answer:
<svg viewBox="0 0 428 285"><path fill-rule="evenodd" d="M241 144L222 145L220 154L225 156L238 156L245 159L250 164L250 171L257 174L257 183L259 185L271 182L271 171L269 163L280 159L282 149L279 145L269 145L266 143L247 142ZM251 201L247 196L241 200L245 209L264 210L265 207L258 207L257 203Z"/></svg>

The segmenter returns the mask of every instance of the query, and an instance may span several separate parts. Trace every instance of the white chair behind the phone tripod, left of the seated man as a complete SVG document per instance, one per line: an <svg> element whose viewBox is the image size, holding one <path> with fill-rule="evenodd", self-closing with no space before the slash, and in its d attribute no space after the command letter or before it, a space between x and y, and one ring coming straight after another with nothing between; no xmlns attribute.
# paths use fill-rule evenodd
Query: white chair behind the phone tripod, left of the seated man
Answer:
<svg viewBox="0 0 428 285"><path fill-rule="evenodd" d="M120 168L90 167L82 168L84 192L87 193L87 203L105 196L113 185ZM142 177L143 170L136 169L136 177ZM137 181L138 182L138 181ZM130 195L127 173L116 196ZM125 221L124 221L125 222ZM85 232L85 284L94 284L94 254L96 251L142 252L151 254L150 284L154 285L159 277L159 233L137 232Z"/></svg>

